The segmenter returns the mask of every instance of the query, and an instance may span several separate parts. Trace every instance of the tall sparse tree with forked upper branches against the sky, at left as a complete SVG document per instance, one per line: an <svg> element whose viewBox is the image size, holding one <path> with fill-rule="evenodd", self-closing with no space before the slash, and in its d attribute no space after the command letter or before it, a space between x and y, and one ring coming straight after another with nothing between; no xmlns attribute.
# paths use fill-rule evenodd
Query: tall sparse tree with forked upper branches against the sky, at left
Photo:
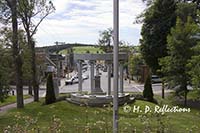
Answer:
<svg viewBox="0 0 200 133"><path fill-rule="evenodd" d="M53 11L55 7L48 0L20 0L19 1L19 17L22 20L23 27L26 32L27 42L31 50L31 69L32 69L32 85L34 91L34 101L39 101L39 83L37 77L37 68L35 60L35 42L33 35L36 33L41 22ZM33 17L39 17L36 25L33 23Z"/></svg>

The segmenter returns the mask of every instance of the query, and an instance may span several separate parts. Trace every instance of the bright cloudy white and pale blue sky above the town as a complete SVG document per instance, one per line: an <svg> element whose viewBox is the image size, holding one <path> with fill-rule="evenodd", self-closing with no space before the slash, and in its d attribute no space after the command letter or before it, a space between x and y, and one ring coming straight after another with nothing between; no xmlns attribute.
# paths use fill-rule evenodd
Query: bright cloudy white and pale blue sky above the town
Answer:
<svg viewBox="0 0 200 133"><path fill-rule="evenodd" d="M53 0L56 8L39 26L36 46L65 43L97 44L100 31L113 27L113 0ZM141 24L133 24L143 12L142 0L119 0L119 39L138 45ZM37 21L37 20L36 20Z"/></svg>

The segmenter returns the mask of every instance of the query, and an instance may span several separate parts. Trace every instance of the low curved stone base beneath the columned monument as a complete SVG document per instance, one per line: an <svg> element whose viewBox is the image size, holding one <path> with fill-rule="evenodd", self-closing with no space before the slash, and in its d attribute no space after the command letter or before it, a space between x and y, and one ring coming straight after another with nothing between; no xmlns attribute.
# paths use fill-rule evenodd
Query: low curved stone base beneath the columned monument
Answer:
<svg viewBox="0 0 200 133"><path fill-rule="evenodd" d="M129 94L119 95L119 105L124 105L125 103L130 103L135 100L134 97L130 97ZM79 95L77 93L71 94L71 98L67 98L67 101L85 106L92 107L103 107L105 105L110 105L113 102L113 96L106 95Z"/></svg>

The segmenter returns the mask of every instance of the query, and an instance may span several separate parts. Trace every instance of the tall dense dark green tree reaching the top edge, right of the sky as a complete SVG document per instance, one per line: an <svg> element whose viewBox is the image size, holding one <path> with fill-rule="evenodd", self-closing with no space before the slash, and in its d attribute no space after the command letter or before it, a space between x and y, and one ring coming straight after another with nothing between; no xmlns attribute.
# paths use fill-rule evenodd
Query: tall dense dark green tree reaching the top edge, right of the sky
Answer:
<svg viewBox="0 0 200 133"><path fill-rule="evenodd" d="M159 58L167 55L167 35L176 22L175 10L175 0L155 0L143 15L141 53L153 73L160 69Z"/></svg>

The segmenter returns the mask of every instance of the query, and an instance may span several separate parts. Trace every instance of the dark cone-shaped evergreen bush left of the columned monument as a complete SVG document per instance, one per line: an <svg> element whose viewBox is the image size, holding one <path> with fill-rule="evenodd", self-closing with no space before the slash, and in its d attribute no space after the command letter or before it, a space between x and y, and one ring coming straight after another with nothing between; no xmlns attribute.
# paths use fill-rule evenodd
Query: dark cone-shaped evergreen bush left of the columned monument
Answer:
<svg viewBox="0 0 200 133"><path fill-rule="evenodd" d="M46 87L46 97L45 97L45 103L51 104L56 101L56 96L54 92L54 86L53 86L53 77L52 73L49 73L47 76L47 87Z"/></svg>

